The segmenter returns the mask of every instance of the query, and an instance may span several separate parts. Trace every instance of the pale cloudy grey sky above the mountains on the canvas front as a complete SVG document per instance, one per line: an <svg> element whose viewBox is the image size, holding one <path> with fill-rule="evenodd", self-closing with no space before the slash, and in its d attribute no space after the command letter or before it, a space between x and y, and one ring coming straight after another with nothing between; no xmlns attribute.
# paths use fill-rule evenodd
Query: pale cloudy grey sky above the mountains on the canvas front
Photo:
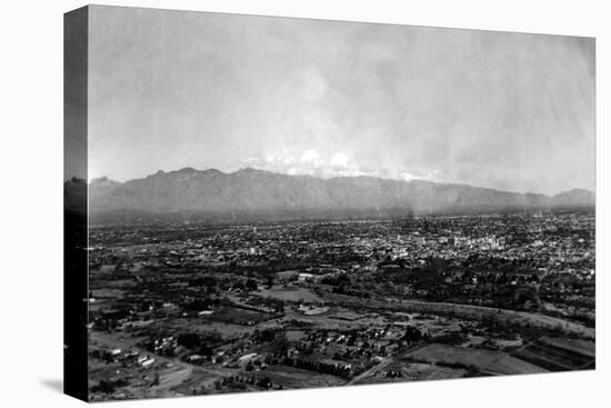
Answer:
<svg viewBox="0 0 611 408"><path fill-rule="evenodd" d="M594 189L587 38L93 7L89 177Z"/></svg>

